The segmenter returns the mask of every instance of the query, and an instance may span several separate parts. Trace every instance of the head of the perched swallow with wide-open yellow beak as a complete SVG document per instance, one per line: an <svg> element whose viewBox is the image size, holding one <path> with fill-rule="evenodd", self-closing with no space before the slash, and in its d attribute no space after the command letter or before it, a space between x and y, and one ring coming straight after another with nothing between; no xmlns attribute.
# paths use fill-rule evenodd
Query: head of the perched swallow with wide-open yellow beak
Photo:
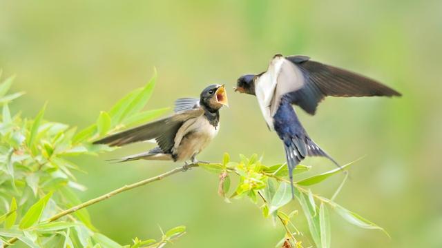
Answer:
<svg viewBox="0 0 442 248"><path fill-rule="evenodd" d="M222 106L229 107L224 85L209 85L200 94L200 104L209 110L219 110Z"/></svg>

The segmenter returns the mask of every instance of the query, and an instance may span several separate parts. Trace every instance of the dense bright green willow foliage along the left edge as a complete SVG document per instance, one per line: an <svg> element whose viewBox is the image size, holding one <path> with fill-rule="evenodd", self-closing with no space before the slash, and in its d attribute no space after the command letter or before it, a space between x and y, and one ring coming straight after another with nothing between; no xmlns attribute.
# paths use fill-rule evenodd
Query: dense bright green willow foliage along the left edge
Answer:
<svg viewBox="0 0 442 248"><path fill-rule="evenodd" d="M14 77L0 83L0 242L21 240L29 247L122 247L100 234L86 209L52 222L51 216L79 205L78 191L86 190L77 182L78 165L73 156L111 151L106 145L90 141L121 128L150 121L168 108L144 111L155 85L155 76L140 89L127 94L97 121L77 131L64 123L46 121L46 105L35 118L12 114L10 103L23 92L8 94ZM128 247L160 247L184 234L184 227L166 232L162 240L147 245L135 239ZM156 246L155 246L156 244Z"/></svg>

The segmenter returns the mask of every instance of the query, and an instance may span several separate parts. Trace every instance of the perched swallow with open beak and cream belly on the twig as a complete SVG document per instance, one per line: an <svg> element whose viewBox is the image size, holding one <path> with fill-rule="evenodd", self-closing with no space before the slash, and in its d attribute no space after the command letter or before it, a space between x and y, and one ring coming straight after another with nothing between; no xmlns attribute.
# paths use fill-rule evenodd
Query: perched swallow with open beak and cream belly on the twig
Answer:
<svg viewBox="0 0 442 248"><path fill-rule="evenodd" d="M94 144L122 146L155 139L157 147L124 157L121 161L146 159L197 163L195 156L218 134L219 110L223 105L228 105L224 85L210 85L201 92L200 99L177 99L172 116L113 134Z"/></svg>

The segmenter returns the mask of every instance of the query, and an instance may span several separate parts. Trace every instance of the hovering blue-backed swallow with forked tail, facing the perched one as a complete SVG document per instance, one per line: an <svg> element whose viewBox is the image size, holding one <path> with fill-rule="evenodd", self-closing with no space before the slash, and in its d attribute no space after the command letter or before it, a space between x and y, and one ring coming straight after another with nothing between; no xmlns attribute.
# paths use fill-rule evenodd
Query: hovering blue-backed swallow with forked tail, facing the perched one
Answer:
<svg viewBox="0 0 442 248"><path fill-rule="evenodd" d="M311 140L292 104L314 115L325 96L401 96L373 79L311 61L308 56L280 54L273 56L267 71L241 76L235 91L256 96L269 130L284 142L292 195L293 169L306 156L324 156L338 165Z"/></svg>

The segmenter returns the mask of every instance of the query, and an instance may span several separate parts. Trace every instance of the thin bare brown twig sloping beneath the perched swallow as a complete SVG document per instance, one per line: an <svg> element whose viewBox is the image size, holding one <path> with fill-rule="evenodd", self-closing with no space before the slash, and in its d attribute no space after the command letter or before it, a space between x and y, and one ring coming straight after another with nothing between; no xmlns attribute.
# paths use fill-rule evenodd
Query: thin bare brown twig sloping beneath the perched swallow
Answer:
<svg viewBox="0 0 442 248"><path fill-rule="evenodd" d="M154 176L152 178L147 178L147 179L141 180L140 182L133 183L131 185L124 185L123 187L115 189L112 192L109 192L108 194L104 194L104 195L99 196L97 198L93 198L91 200L88 200L85 203L81 203L79 205L71 207L70 209L66 209L64 211L61 211L59 214L56 214L55 216L52 216L52 217L48 218L44 222L50 223L50 222L52 222L54 220L58 220L59 218L61 218L63 216L66 216L68 214L72 214L73 212L78 211L79 209L82 209L84 207L88 207L88 206L93 205L95 203L99 203L102 200L106 200L108 198L111 198L112 196L115 196L116 194L119 194L119 193L122 193L122 192L126 192L126 191L128 191L130 189L135 189L136 187L140 187L140 186L146 185L148 183L153 183L153 182L155 182L157 180L161 180L162 178L165 178L167 176L171 176L173 174L177 174L178 172L185 172L187 169L190 169L192 167L198 167L198 163L193 163L193 164L189 164L189 165L179 166L179 167L176 167L175 169L170 170L169 172L165 172L165 173L160 174L158 176ZM17 237L10 238L10 240L8 240L8 243L12 244L15 241L17 241L17 239L18 239ZM8 247L8 246L9 246L8 244L5 244L5 245L3 245L3 248L4 247Z"/></svg>

